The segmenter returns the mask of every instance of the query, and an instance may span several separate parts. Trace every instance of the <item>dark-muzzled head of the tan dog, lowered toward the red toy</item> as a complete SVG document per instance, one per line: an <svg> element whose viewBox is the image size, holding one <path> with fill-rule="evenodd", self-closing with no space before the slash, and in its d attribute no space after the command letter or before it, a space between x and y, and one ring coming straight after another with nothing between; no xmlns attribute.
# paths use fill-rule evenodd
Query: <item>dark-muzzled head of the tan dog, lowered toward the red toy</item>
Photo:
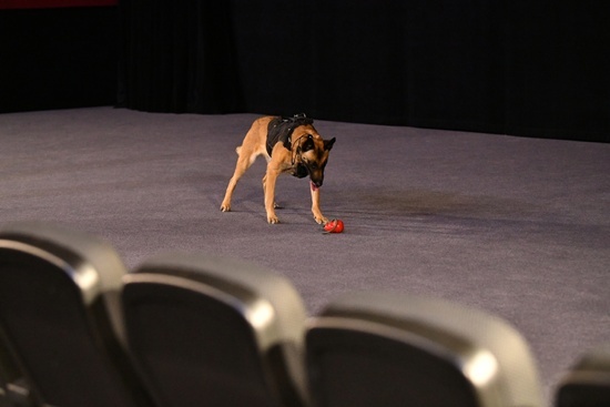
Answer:
<svg viewBox="0 0 610 407"><path fill-rule="evenodd" d="M316 190L324 183L324 169L328 162L328 153L335 144L335 138L323 140L319 134L304 134L296 147L294 176L303 179L309 175L312 189Z"/></svg>

